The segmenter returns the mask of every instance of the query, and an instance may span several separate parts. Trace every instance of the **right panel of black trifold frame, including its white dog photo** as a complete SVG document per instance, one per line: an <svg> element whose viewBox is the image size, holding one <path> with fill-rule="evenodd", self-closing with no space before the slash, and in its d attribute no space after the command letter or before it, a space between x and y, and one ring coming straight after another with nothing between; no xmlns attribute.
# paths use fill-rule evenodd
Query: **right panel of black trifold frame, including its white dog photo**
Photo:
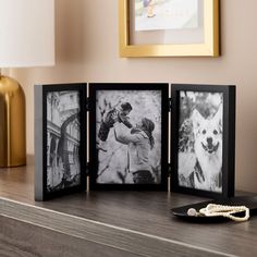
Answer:
<svg viewBox="0 0 257 257"><path fill-rule="evenodd" d="M235 86L171 86L171 189L234 195Z"/></svg>

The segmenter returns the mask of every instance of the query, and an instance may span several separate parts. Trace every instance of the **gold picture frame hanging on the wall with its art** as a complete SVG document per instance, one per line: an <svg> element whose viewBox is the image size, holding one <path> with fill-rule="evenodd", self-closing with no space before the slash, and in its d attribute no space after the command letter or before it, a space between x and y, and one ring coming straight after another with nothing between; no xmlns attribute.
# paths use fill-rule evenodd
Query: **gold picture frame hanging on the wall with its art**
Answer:
<svg viewBox="0 0 257 257"><path fill-rule="evenodd" d="M218 57L219 0L119 0L120 57Z"/></svg>

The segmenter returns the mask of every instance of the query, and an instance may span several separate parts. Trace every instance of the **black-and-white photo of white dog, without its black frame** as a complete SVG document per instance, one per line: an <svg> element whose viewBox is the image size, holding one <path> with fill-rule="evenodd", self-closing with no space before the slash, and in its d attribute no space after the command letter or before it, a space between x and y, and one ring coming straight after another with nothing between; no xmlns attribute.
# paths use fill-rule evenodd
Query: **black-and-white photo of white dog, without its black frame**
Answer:
<svg viewBox="0 0 257 257"><path fill-rule="evenodd" d="M185 97L189 100L185 101ZM182 115L180 128L180 185L221 193L222 94L188 94L183 97L181 108L186 114Z"/></svg>

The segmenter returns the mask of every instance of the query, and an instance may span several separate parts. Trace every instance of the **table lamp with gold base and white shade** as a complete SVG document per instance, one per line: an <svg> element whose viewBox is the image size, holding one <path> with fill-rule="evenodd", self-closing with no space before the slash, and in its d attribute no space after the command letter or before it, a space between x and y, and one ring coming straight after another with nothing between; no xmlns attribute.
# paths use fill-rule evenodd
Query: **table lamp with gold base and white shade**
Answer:
<svg viewBox="0 0 257 257"><path fill-rule="evenodd" d="M54 0L0 0L0 69L54 65ZM0 167L26 164L25 95L0 73Z"/></svg>

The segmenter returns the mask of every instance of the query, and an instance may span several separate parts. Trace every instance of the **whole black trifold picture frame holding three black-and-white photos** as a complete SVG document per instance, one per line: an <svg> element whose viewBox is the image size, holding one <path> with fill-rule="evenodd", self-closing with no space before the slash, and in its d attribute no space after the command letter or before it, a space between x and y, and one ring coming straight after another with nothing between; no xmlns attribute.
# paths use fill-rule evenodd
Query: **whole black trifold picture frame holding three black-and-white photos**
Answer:
<svg viewBox="0 0 257 257"><path fill-rule="evenodd" d="M172 84L171 98L169 89L36 85L35 200L86 189L168 191L169 176L173 192L233 196L235 86Z"/></svg>

